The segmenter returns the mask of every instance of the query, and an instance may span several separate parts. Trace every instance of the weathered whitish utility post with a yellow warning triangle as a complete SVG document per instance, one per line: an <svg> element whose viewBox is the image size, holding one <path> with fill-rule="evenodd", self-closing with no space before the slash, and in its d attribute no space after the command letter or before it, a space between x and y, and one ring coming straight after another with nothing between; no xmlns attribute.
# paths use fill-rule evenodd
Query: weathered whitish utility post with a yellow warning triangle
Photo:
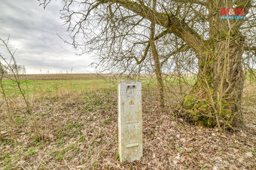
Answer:
<svg viewBox="0 0 256 170"><path fill-rule="evenodd" d="M142 157L142 83L118 84L118 149L120 162Z"/></svg>

